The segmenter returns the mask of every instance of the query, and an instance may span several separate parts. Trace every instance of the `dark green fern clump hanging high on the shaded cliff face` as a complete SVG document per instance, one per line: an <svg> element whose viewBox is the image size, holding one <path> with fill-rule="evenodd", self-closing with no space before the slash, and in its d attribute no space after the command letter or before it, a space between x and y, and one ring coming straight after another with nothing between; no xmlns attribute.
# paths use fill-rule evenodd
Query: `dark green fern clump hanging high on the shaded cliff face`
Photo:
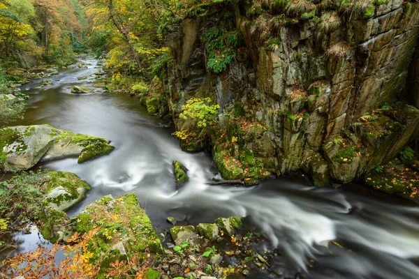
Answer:
<svg viewBox="0 0 419 279"><path fill-rule="evenodd" d="M208 57L207 68L219 74L235 60L242 36L237 30L227 31L224 28L212 27L203 33L203 42Z"/></svg>

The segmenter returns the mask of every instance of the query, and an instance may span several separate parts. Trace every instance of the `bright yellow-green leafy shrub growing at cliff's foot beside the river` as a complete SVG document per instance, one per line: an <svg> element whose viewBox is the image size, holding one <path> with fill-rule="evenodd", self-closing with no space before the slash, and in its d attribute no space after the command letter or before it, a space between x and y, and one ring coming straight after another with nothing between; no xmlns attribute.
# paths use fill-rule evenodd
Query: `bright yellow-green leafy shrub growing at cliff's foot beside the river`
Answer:
<svg viewBox="0 0 419 279"><path fill-rule="evenodd" d="M180 117L183 119L193 119L199 128L207 128L216 123L216 114L219 105L210 105L211 98L191 98L182 107Z"/></svg>

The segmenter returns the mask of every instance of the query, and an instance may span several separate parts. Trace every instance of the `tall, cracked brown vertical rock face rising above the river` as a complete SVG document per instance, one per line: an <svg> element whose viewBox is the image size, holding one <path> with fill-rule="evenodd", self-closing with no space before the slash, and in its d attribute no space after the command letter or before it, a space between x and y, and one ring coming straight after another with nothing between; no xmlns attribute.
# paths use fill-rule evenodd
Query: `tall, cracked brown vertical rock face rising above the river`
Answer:
<svg viewBox="0 0 419 279"><path fill-rule="evenodd" d="M161 88L177 130L193 127L179 119L187 99L220 105L211 146L223 176L303 168L316 184L348 183L418 137L419 3L294 2L186 7L166 36L174 60ZM227 34L227 46L230 33L241 38L222 73L208 58L214 40L205 32L214 29Z"/></svg>

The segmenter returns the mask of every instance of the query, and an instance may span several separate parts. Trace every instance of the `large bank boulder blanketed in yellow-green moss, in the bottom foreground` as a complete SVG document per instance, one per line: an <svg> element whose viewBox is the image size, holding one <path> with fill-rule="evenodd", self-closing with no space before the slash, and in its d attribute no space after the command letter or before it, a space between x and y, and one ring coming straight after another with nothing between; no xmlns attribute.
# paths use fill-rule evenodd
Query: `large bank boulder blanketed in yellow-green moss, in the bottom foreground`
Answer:
<svg viewBox="0 0 419 279"><path fill-rule="evenodd" d="M86 206L75 217L75 230L81 234L96 231L89 247L94 253L91 261L101 266L98 278L105 278L105 270L116 259L163 255L161 241L135 193L116 199L105 196Z"/></svg>

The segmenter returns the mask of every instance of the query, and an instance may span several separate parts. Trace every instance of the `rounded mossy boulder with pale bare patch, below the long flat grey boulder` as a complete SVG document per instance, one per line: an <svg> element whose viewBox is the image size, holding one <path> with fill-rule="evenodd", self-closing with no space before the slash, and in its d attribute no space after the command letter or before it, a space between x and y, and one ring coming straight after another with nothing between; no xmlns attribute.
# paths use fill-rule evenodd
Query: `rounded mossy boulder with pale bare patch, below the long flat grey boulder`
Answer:
<svg viewBox="0 0 419 279"><path fill-rule="evenodd" d="M54 210L65 211L82 201L89 184L71 172L49 172L45 202Z"/></svg>

